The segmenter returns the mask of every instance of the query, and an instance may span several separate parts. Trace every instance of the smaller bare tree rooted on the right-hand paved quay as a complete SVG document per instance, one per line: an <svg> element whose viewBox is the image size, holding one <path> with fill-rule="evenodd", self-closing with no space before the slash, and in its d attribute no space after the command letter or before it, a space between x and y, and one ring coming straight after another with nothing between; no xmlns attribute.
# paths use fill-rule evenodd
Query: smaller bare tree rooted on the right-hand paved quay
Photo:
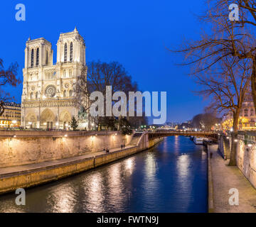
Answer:
<svg viewBox="0 0 256 227"><path fill-rule="evenodd" d="M236 143L238 123L242 102L250 85L251 65L248 60L238 57L224 57L218 62L218 69L213 72L196 75L196 82L201 86L199 94L212 100L211 108L219 112L232 111L233 131L229 165L236 165Z"/></svg>

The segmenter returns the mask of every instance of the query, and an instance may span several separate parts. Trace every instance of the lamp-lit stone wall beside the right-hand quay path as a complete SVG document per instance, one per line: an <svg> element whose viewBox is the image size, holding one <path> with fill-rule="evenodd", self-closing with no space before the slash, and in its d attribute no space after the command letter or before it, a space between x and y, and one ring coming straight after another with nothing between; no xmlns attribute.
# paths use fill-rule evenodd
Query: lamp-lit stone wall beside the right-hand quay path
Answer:
<svg viewBox="0 0 256 227"><path fill-rule="evenodd" d="M220 138L223 135L220 136ZM231 137L219 140L219 150L221 153L230 153L230 147L225 147L224 143L228 140L231 143ZM224 145L223 145L224 144ZM226 150L224 150L226 148ZM252 131L240 132L237 142L237 165L242 174L250 181L253 187L256 188L256 133Z"/></svg>

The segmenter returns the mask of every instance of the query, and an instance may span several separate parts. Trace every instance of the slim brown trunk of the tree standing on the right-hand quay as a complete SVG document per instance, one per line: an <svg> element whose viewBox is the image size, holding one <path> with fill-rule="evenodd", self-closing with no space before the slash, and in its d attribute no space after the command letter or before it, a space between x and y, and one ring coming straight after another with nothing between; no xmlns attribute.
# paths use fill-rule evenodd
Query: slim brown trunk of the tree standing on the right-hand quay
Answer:
<svg viewBox="0 0 256 227"><path fill-rule="evenodd" d="M240 109L237 109L233 114L233 132L231 133L231 149L230 149L230 162L229 166L236 165L237 143L235 140L238 138L238 120Z"/></svg>

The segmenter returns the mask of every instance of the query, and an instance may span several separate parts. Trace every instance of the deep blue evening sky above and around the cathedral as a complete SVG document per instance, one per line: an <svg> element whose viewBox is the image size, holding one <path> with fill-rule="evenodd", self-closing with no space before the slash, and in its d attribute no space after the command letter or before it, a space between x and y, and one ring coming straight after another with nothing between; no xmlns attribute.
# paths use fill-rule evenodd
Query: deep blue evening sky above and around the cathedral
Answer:
<svg viewBox="0 0 256 227"><path fill-rule="evenodd" d="M26 21L15 19L18 3L26 6ZM22 78L29 35L52 43L55 62L60 33L77 26L85 38L87 62L120 62L142 91L167 92L167 121L186 121L201 113L206 103L192 92L196 84L188 77L189 68L175 65L182 57L166 48L199 37L195 14L203 8L201 0L1 1L0 58L5 67L17 61ZM22 84L11 89L18 102L21 91Z"/></svg>

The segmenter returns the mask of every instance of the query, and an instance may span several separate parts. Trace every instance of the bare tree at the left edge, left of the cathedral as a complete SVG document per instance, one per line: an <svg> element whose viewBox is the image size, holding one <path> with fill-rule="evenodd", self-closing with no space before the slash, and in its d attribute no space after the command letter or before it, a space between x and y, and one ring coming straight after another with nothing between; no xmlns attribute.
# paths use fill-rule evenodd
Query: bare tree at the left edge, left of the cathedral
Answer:
<svg viewBox="0 0 256 227"><path fill-rule="evenodd" d="M6 101L11 101L14 97L11 97L9 92L6 92L4 87L6 85L11 85L16 87L21 83L19 79L17 79L18 74L18 63L12 63L8 70L4 70L3 60L0 58L0 116L4 114L4 104Z"/></svg>

